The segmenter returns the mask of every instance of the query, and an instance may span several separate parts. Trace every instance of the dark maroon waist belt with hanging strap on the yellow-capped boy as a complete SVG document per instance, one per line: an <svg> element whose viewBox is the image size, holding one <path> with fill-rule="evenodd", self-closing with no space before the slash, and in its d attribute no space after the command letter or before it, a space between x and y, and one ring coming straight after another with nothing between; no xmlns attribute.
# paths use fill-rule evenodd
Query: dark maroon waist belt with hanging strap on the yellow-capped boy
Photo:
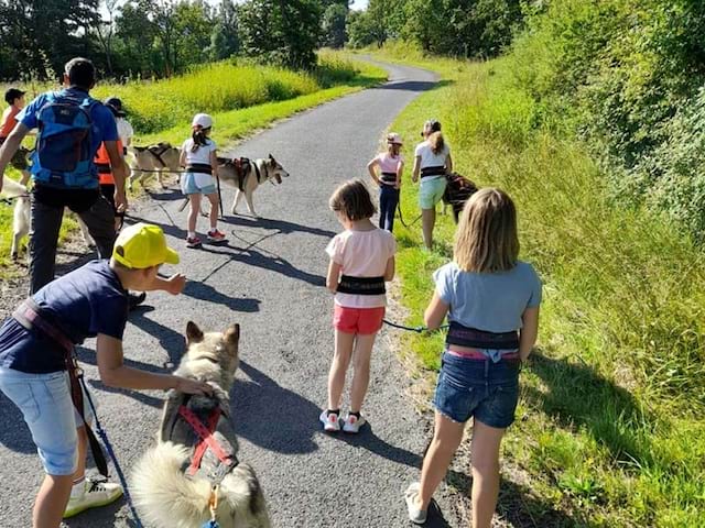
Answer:
<svg viewBox="0 0 705 528"><path fill-rule="evenodd" d="M96 435L93 432L93 429L84 416L84 393L80 389L80 378L84 376L84 371L78 366L78 362L76 361L74 354L74 342L66 337L64 331L53 322L51 318L42 314L42 309L31 297L24 300L12 312L12 318L29 331L34 331L34 329L39 330L64 349L64 363L68 371L68 378L70 381L70 398L82 421L84 422L96 466L100 474L107 477L108 462L106 461L106 457L102 453L102 449L100 448L100 443L98 442Z"/></svg>

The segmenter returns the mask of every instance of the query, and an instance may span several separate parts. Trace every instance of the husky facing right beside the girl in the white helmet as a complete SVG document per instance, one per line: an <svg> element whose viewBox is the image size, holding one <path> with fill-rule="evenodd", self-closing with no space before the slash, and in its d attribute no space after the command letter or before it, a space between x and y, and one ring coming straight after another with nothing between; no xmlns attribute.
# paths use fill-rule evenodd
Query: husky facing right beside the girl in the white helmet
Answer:
<svg viewBox="0 0 705 528"><path fill-rule="evenodd" d="M230 212L237 215L237 208L245 195L247 209L253 217L254 205L252 195L254 190L264 182L281 184L282 178L289 177L284 167L270 154L267 160L226 158L218 157L218 177L236 188L235 200Z"/></svg>

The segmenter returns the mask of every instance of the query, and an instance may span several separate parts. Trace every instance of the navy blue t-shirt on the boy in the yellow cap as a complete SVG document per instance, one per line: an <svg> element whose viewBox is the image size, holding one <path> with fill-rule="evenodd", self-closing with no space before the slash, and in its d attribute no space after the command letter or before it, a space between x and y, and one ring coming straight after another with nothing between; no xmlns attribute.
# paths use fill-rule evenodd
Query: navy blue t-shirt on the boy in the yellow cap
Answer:
<svg viewBox="0 0 705 528"><path fill-rule="evenodd" d="M46 319L75 344L99 333L122 340L128 293L108 262L89 262L34 294ZM34 374L63 371L64 349L10 317L0 327L0 366Z"/></svg>

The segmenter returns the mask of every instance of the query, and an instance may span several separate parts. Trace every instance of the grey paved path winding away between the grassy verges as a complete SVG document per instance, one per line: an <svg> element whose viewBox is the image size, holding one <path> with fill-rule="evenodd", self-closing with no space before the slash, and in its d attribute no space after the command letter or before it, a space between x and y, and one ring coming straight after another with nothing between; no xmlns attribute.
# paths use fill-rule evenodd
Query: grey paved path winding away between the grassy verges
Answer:
<svg viewBox="0 0 705 528"><path fill-rule="evenodd" d="M191 282L180 297L151 295L148 304L154 308L131 316L126 361L163 372L165 362L178 361L189 319L213 330L241 324L242 362L232 391L239 458L254 466L276 527L410 526L402 491L419 476L429 431L404 395L409 381L384 340L373 353L365 407L371 428L358 437L330 437L317 421L333 353L324 249L340 229L327 209L328 196L340 182L364 176L389 123L434 82L427 72L387 67L391 80L383 87L318 107L238 146L239 155L274 154L291 177L257 191L261 219L227 218L229 245L187 250L181 200L169 195L134 212L163 226L182 254L178 270ZM408 157L414 140L406 138ZM232 199L230 189L225 199ZM205 219L199 221L204 227ZM80 355L98 411L129 469L156 431L161 394L108 389L98 381L94 353ZM0 526L26 527L41 468L20 415L1 395L0 424ZM440 496L440 503L447 520L435 518L429 526L459 526L447 498ZM133 524L121 502L83 514L69 526Z"/></svg>

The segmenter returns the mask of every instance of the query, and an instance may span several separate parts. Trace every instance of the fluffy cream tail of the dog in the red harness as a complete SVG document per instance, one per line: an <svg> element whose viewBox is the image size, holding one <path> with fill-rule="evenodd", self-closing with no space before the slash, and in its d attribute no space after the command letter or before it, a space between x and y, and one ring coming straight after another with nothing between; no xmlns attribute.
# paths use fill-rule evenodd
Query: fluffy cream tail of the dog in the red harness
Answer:
<svg viewBox="0 0 705 528"><path fill-rule="evenodd" d="M138 461L132 471L134 505L148 526L175 528L177 519L208 519L210 486L205 480L189 480L183 473L188 449L172 442L159 443Z"/></svg>

